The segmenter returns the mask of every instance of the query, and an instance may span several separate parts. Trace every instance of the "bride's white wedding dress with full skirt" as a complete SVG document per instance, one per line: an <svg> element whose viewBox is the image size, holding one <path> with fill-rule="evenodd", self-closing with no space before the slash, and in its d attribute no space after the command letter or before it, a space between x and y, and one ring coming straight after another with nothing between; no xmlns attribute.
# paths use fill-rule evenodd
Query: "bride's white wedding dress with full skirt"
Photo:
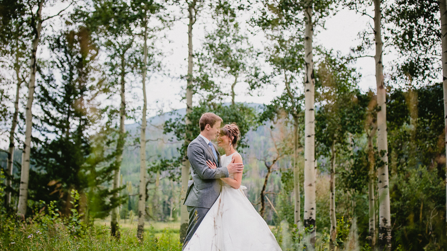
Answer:
<svg viewBox="0 0 447 251"><path fill-rule="evenodd" d="M233 154L221 157L222 166L230 163ZM222 182L221 194L183 251L281 251L243 189Z"/></svg>

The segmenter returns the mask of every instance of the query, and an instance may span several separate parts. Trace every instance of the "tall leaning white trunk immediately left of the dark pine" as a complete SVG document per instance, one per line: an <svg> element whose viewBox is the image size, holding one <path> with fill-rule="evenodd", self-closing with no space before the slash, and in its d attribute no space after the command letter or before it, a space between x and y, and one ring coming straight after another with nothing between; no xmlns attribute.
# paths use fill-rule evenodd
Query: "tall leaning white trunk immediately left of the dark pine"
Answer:
<svg viewBox="0 0 447 251"><path fill-rule="evenodd" d="M19 201L17 206L17 215L25 217L26 214L26 202L28 199L28 181L29 181L29 159L31 150L31 130L33 124L33 114L31 108L34 100L34 84L36 82L36 53L37 46L40 40L40 32L42 30L42 7L43 0L39 2L36 15L33 16L32 26L34 39L31 50L31 65L28 84L28 101L26 103L26 117L25 117L25 144L23 145L22 153L22 170L20 174L20 191ZM37 22L37 25L36 25Z"/></svg>

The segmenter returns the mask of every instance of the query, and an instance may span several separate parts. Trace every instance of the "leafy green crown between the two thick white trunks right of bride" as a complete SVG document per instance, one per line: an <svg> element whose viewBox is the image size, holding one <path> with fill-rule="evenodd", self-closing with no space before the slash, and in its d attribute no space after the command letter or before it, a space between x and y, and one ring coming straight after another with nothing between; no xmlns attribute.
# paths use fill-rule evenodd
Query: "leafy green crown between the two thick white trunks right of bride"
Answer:
<svg viewBox="0 0 447 251"><path fill-rule="evenodd" d="M341 59L339 59L341 58ZM334 142L347 146L348 133L361 133L364 128L365 107L358 102L358 76L354 68L339 55L325 55L317 65L315 96L319 108L315 114L315 139L327 153Z"/></svg>

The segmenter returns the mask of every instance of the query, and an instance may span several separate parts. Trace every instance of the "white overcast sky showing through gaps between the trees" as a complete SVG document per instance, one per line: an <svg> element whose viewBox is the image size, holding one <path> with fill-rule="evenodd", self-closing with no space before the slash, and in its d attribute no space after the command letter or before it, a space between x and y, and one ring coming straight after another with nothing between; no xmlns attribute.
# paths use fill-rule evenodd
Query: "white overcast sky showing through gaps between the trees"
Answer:
<svg viewBox="0 0 447 251"><path fill-rule="evenodd" d="M55 6L46 9L44 8L43 14L44 16L53 15L65 6L67 6L66 3L56 4ZM193 45L195 50L200 47L201 41L205 35L206 25L204 24L204 20L206 19L199 19L193 30ZM343 55L347 55L350 52L350 48L360 44L358 33L369 28L370 24L373 24L372 21L373 20L371 20L370 17L361 16L354 11L342 9L326 20L325 30L317 28L314 43L322 45L326 49L333 49L334 51L340 51ZM178 79L178 77L186 75L187 73L187 22L188 20L186 18L176 21L171 29L165 31L167 40L160 43L160 48L166 55L164 58L166 71L170 73L171 77L154 75L150 78L147 86L149 117L156 115L159 111L168 112L186 107L185 101L181 101L181 95L186 87L186 80ZM53 24L56 23L57 21L53 22ZM255 47L260 49L263 47L262 38L260 36L252 37L252 43ZM386 49L387 48L384 48L385 52ZM46 56L48 56L48 50L42 49L41 46L38 57L45 58ZM388 63L392 62L394 59L392 53L383 55L385 75ZM362 74L360 88L363 91L367 91L369 88L375 89L375 64L373 58L359 59L354 66ZM278 86L276 88L270 86L262 91L261 96L249 96L245 94L244 86L238 84L236 85L235 100L236 102L268 104L282 92L283 88L283 86ZM137 96L139 95L137 94ZM128 100L130 99L128 98ZM119 102L119 100L114 99L111 102ZM137 100L137 102L139 102L139 100ZM194 100L193 102L198 102L198 100ZM126 124L132 123L134 123L134 121L129 120L126 122ZM6 141L6 138L1 139L0 147L4 148Z"/></svg>

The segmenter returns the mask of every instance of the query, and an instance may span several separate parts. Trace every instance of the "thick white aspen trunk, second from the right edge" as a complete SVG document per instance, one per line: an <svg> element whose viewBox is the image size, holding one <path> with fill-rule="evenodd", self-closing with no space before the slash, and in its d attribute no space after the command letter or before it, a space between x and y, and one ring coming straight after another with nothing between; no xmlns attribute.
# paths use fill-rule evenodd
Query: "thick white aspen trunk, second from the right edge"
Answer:
<svg viewBox="0 0 447 251"><path fill-rule="evenodd" d="M380 0L374 0L375 79L377 84L377 151L382 165L378 171L379 249L391 248L391 215L388 183L388 140L386 133L386 88L383 79Z"/></svg>

